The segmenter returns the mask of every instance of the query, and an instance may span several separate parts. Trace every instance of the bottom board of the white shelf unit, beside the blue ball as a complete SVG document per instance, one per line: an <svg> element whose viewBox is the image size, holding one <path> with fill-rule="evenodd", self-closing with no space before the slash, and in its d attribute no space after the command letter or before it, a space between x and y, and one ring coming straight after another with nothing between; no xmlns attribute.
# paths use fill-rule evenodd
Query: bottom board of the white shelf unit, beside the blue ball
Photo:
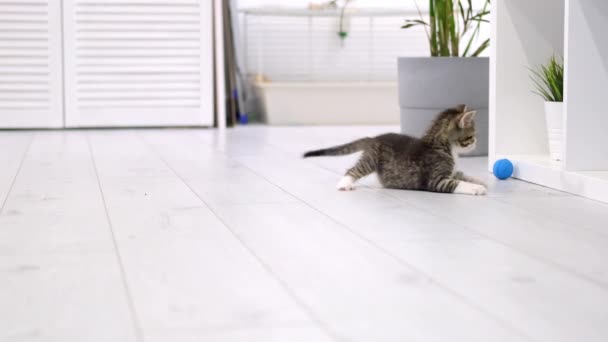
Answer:
<svg viewBox="0 0 608 342"><path fill-rule="evenodd" d="M608 170L565 171L549 155L502 155L513 162L513 178L608 203Z"/></svg>

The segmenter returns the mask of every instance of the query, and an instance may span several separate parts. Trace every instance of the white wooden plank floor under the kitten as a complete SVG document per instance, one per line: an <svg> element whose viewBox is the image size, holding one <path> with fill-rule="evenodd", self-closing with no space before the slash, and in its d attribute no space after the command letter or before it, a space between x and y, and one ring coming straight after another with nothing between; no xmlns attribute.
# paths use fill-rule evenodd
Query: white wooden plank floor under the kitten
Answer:
<svg viewBox="0 0 608 342"><path fill-rule="evenodd" d="M0 341L608 341L608 205L300 158L387 130L0 132Z"/></svg>

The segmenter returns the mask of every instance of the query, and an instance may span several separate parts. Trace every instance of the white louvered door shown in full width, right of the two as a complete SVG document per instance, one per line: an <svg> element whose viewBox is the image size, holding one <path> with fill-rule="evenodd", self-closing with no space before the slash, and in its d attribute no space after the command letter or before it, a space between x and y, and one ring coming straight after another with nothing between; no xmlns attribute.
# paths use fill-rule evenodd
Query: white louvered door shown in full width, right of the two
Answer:
<svg viewBox="0 0 608 342"><path fill-rule="evenodd" d="M213 124L211 0L64 0L67 127Z"/></svg>

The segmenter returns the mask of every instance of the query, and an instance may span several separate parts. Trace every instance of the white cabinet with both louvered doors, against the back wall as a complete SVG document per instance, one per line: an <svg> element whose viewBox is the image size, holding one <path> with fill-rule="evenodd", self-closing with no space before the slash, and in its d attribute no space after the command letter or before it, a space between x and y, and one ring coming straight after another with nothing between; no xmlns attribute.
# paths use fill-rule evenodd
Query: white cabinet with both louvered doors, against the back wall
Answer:
<svg viewBox="0 0 608 342"><path fill-rule="evenodd" d="M0 128L210 126L211 0L0 0Z"/></svg>

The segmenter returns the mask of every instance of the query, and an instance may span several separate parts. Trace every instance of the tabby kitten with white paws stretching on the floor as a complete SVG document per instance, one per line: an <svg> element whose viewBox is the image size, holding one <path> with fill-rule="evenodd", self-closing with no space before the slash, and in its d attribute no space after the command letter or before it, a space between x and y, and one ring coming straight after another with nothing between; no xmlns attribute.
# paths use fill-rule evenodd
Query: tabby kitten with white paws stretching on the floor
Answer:
<svg viewBox="0 0 608 342"><path fill-rule="evenodd" d="M460 105L441 112L421 139L389 133L310 151L304 158L363 151L338 183L339 190L353 190L355 181L377 172L387 188L485 195L483 182L455 170L458 154L475 149L474 116L475 111Z"/></svg>

